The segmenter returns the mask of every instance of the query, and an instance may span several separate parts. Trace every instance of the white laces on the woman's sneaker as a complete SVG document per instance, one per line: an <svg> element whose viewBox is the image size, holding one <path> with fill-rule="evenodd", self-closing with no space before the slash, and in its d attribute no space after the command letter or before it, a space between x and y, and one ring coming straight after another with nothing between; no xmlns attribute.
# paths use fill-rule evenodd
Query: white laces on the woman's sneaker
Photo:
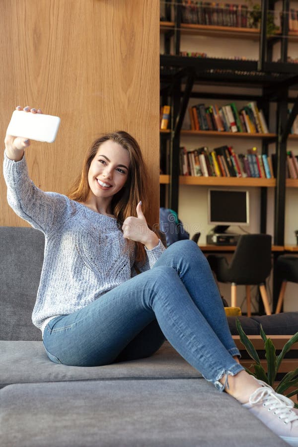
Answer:
<svg viewBox="0 0 298 447"><path fill-rule="evenodd" d="M268 411L274 410L273 414L283 419L285 424L298 420L298 414L292 410L294 402L282 394L278 394L271 386L264 383L264 386L258 388L249 398L251 404L257 404L263 401L263 406L268 407Z"/></svg>

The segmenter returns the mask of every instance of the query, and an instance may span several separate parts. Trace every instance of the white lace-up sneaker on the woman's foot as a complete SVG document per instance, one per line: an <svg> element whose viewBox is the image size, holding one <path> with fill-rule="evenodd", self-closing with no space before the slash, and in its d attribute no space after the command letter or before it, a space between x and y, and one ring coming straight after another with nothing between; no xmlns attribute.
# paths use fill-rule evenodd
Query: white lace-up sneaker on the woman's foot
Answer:
<svg viewBox="0 0 298 447"><path fill-rule="evenodd" d="M262 380L258 383L262 386L252 393L243 407L290 446L298 446L298 410L294 408L294 402L276 393Z"/></svg>

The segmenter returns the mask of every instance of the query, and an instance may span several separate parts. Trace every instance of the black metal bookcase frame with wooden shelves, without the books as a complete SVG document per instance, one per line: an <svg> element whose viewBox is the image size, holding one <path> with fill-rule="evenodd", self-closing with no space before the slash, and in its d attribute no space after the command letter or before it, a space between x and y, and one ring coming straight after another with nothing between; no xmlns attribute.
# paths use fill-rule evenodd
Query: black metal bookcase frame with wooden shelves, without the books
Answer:
<svg viewBox="0 0 298 447"><path fill-rule="evenodd" d="M243 3L243 1L242 1ZM266 36L265 20L269 9L274 9L275 1L262 1L262 20L260 29L239 28L215 25L203 25L195 23L181 22L181 1L173 3L173 10L170 14L170 4L167 3L166 20L160 22L161 33L163 34L164 52L160 56L161 66L161 98L167 97L167 92L171 91L170 101L172 105L171 131L164 140L164 146L169 145L169 171L160 176L160 184L165 191L165 185L168 185L168 205L170 208L178 211L179 187L181 186L237 186L237 187L257 187L260 189L260 208L261 223L260 231L266 231L266 208L267 208L267 189L273 189L275 201L274 216L274 239L275 243L284 242L284 213L285 213L285 191L286 188L297 188L298 180L286 179L286 145L289 137L290 141L298 140L296 135L288 135L288 102L289 89L297 83L298 65L288 63L287 46L288 41L298 41L298 32L289 32L289 23L287 22L289 4L284 2L283 19L280 29L272 35ZM258 45L258 58L255 60L233 60L221 57L186 57L181 56L181 38L195 39L196 36L205 39L228 37L229 39L252 40ZM286 36L286 38L285 38ZM200 40L200 43L203 41ZM216 40L215 40L216 42ZM275 46L280 46L280 58L273 60ZM202 49L200 48L200 51ZM217 131L194 131L182 128L187 107L192 97L212 98L216 102L217 87L220 85L233 85L258 88L260 93L255 99L262 104L268 123L270 108L276 108L275 132L268 134L248 134ZM196 87L199 86L199 92ZM215 91L215 92L214 92ZM202 92L204 94L202 94ZM210 95L210 96L208 96ZM221 95L219 95L221 96ZM231 96L233 96L231 94ZM241 96L241 95L240 95ZM221 96L222 99L224 96ZM249 94L243 95L243 98L249 100ZM233 97L233 100L235 98ZM225 95L228 102L229 95ZM199 101L199 99L198 99ZM293 101L295 102L295 100ZM293 118L293 117L292 117ZM285 124L286 123L286 124ZM272 129L270 129L272 130ZM230 144L239 140L243 144L255 145L260 142L262 153L272 151L273 145L277 153L279 164L277 167L276 178L225 178L225 177L193 177L179 175L179 166L177 163L179 157L179 147L183 141L189 143L190 139L200 141L198 146L209 146L208 139L215 140L226 139ZM186 140L185 140L186 139ZM203 143L204 142L204 143ZM249 143L251 142L251 143Z"/></svg>

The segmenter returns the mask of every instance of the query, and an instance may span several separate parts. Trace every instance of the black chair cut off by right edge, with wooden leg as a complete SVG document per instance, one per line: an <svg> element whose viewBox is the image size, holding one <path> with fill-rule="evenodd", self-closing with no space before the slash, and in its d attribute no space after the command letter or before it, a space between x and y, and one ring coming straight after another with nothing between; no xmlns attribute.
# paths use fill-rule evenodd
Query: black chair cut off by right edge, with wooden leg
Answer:
<svg viewBox="0 0 298 447"><path fill-rule="evenodd" d="M277 258L275 272L282 282L275 313L280 313L285 298L288 281L298 283L298 256L282 255Z"/></svg>

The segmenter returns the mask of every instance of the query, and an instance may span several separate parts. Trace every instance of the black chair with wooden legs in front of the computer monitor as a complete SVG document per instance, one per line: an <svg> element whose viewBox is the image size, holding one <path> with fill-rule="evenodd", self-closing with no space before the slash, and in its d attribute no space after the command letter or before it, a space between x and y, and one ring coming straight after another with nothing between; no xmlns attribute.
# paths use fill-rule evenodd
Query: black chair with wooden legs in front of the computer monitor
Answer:
<svg viewBox="0 0 298 447"><path fill-rule="evenodd" d="M211 269L220 283L231 283L231 306L236 307L236 286L246 286L247 316L251 316L250 286L258 285L265 312L271 315L265 282L271 272L271 236L242 234L230 264L224 256L209 255Z"/></svg>

